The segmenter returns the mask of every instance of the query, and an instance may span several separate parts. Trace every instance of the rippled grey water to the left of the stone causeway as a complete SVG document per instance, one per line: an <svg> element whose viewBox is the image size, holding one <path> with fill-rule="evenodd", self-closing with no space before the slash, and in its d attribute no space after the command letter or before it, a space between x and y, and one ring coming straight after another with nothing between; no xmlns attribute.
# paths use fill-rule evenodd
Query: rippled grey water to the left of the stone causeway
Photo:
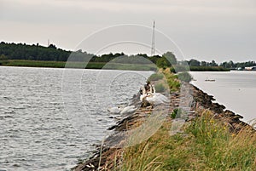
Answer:
<svg viewBox="0 0 256 171"><path fill-rule="evenodd" d="M0 67L0 169L72 168L116 122L107 107L127 105L151 74Z"/></svg>

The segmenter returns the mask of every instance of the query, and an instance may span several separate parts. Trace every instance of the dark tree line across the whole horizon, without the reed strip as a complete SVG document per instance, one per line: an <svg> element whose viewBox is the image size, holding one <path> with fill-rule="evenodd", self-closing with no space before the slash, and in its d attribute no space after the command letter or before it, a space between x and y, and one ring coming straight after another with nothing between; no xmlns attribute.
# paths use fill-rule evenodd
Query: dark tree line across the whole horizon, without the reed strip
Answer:
<svg viewBox="0 0 256 171"><path fill-rule="evenodd" d="M172 65L181 65L190 67L224 67L228 69L235 69L240 67L241 69L247 66L256 66L255 61L247 62L233 62L225 61L217 64L215 60L210 62L199 61L195 59L177 61L175 55L172 52L166 52L162 55L148 56L148 54L131 54L124 53L109 53L109 54L88 54L82 50L69 51L61 48L56 48L54 44L50 44L48 47L44 47L37 44L28 45L26 43L0 43L0 60L53 60L53 61L67 61L70 55L76 56L76 60L80 61L84 58L90 59L90 62L102 62L107 63L113 61L115 63L129 63L129 64L148 64L154 63L158 67L170 67ZM171 61L171 62L170 62Z"/></svg>

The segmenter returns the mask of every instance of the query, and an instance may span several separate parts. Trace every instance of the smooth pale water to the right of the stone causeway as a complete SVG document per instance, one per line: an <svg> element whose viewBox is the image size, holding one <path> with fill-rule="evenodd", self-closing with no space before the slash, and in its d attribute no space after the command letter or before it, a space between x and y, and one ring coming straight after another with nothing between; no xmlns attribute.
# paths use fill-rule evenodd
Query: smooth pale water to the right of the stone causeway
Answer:
<svg viewBox="0 0 256 171"><path fill-rule="evenodd" d="M250 122L256 118L256 71L190 73L196 80L192 82L195 86L212 94L230 111L243 116L243 121ZM215 79L215 82L205 82L206 79Z"/></svg>

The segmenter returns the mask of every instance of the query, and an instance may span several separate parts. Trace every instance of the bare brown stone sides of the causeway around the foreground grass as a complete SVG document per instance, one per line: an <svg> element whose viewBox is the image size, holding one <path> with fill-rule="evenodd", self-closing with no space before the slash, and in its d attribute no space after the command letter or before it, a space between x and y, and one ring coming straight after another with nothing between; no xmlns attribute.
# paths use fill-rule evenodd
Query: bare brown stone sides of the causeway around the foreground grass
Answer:
<svg viewBox="0 0 256 171"><path fill-rule="evenodd" d="M79 163L73 170L75 171L89 171L89 170L106 170L113 168L114 165L118 165L119 158L122 156L122 143L124 143L124 137L120 132L125 132L131 128L140 126L146 117L148 117L154 110L158 110L159 107L166 108L166 117L172 122L170 114L174 109L180 108L181 106L187 111L188 116L186 121L200 117L201 111L209 110L212 111L212 117L222 121L230 128L230 132L238 132L241 128L249 126L247 123L242 122L240 115L235 114L232 111L224 110L224 105L214 103L214 99L211 95L208 95L201 91L201 89L189 83L183 83L183 87L180 92L175 92L170 95L170 103L167 105L160 106L147 106L139 107L134 114L123 116L122 119L116 123L109 130L113 130L113 134L105 140L104 145L98 145L96 152L93 157L88 160ZM139 95L134 95L132 105L140 105ZM188 107L189 106L189 107ZM110 148L112 144L116 147ZM116 159L117 162L113 162Z"/></svg>

